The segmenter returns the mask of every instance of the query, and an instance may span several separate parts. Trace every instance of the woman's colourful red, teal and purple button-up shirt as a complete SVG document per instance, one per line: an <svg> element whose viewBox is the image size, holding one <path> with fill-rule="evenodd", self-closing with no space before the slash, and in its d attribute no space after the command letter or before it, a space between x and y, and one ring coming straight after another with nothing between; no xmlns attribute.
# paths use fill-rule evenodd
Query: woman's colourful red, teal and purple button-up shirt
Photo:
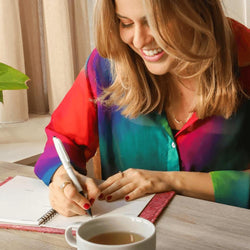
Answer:
<svg viewBox="0 0 250 250"><path fill-rule="evenodd" d="M233 30L240 79L249 93L249 29L233 22ZM99 147L103 179L128 168L209 172L217 202L249 208L250 172L241 171L250 168L248 99L230 119L201 120L194 113L173 135L164 112L128 119L116 107L96 103L103 87L110 84L110 62L94 50L46 127L48 140L35 166L39 178L48 185L61 165L52 142L57 136L80 173L86 173L86 161Z"/></svg>

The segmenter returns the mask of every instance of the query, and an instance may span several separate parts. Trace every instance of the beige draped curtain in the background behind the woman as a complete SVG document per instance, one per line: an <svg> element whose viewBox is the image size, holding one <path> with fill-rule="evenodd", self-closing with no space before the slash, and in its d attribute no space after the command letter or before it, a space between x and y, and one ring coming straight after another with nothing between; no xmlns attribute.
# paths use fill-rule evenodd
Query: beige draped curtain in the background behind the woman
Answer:
<svg viewBox="0 0 250 250"><path fill-rule="evenodd" d="M31 79L27 91L4 91L6 104L26 99L30 113L54 111L93 49L94 2L0 0L0 62Z"/></svg>

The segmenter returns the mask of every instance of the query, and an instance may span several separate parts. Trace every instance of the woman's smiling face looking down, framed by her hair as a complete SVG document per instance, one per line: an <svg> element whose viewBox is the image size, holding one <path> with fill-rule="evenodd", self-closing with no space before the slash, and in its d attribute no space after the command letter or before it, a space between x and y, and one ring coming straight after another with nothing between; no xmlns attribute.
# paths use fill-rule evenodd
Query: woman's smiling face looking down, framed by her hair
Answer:
<svg viewBox="0 0 250 250"><path fill-rule="evenodd" d="M169 72L174 59L157 45L151 34L143 0L115 0L115 4L122 41L143 59L152 74Z"/></svg>

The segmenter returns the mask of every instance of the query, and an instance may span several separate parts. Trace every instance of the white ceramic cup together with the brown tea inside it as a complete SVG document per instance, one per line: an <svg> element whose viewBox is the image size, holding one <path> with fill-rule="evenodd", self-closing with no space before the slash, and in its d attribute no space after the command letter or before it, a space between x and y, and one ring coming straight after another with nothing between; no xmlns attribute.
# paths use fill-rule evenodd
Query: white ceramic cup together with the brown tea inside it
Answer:
<svg viewBox="0 0 250 250"><path fill-rule="evenodd" d="M85 250L154 250L155 226L140 217L107 215L80 224L76 238L69 226L65 238L69 245Z"/></svg>

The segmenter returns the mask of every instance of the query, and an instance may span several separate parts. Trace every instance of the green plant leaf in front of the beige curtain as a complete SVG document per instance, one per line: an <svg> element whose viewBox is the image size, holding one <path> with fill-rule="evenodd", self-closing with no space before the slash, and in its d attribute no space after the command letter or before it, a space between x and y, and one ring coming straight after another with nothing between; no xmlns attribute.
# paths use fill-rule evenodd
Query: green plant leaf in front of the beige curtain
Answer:
<svg viewBox="0 0 250 250"><path fill-rule="evenodd" d="M26 83L28 80L29 77L24 73L4 63L0 63L0 91L13 90L13 89L27 89L28 86L26 85ZM2 98L1 96L0 96L0 101Z"/></svg>

